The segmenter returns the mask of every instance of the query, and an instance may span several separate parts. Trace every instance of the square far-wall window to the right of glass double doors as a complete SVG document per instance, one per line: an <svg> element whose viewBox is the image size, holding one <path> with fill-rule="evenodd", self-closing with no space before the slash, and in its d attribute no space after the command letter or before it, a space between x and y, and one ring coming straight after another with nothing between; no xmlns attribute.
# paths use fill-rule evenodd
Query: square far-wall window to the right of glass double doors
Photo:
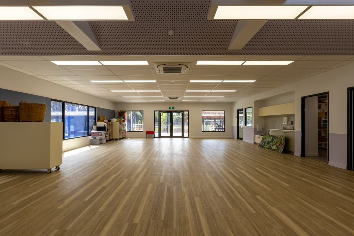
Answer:
<svg viewBox="0 0 354 236"><path fill-rule="evenodd" d="M225 132L225 111L202 111L202 131Z"/></svg>

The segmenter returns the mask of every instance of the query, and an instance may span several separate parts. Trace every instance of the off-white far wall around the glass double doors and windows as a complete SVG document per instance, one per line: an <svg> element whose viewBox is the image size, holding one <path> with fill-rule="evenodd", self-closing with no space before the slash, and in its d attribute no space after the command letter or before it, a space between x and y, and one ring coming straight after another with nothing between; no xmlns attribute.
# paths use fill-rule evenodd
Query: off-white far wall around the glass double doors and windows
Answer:
<svg viewBox="0 0 354 236"><path fill-rule="evenodd" d="M154 130L154 111L169 110L189 111L190 138L231 138L232 103L117 103L116 110L144 111L144 132L127 132L128 138L145 138L145 131ZM202 132L202 110L225 110L225 132ZM172 110L171 110L172 111Z"/></svg>

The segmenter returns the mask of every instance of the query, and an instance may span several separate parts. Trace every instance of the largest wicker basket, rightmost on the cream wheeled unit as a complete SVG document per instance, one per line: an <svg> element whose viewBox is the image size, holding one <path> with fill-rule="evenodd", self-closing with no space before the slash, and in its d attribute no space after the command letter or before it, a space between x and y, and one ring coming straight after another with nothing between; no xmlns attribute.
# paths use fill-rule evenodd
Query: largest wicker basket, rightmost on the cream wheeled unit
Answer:
<svg viewBox="0 0 354 236"><path fill-rule="evenodd" d="M46 104L21 101L19 103L20 121L43 122L46 110Z"/></svg>

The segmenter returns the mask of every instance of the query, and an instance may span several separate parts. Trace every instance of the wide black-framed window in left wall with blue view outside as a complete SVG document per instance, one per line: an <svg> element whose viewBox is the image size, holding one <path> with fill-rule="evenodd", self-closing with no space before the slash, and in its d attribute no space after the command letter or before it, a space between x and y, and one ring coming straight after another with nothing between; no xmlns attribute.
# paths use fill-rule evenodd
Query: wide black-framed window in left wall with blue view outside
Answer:
<svg viewBox="0 0 354 236"><path fill-rule="evenodd" d="M89 136L96 124L96 108L52 100L51 121L63 122L63 139Z"/></svg>

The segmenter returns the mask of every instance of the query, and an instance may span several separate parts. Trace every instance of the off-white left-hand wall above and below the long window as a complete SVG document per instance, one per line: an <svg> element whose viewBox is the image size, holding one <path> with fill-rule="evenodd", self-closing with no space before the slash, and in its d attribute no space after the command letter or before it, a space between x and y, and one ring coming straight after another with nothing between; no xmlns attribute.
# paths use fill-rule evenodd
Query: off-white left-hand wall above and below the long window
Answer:
<svg viewBox="0 0 354 236"><path fill-rule="evenodd" d="M115 103L0 66L0 88L115 110ZM63 141L63 150L89 145L89 137Z"/></svg>

